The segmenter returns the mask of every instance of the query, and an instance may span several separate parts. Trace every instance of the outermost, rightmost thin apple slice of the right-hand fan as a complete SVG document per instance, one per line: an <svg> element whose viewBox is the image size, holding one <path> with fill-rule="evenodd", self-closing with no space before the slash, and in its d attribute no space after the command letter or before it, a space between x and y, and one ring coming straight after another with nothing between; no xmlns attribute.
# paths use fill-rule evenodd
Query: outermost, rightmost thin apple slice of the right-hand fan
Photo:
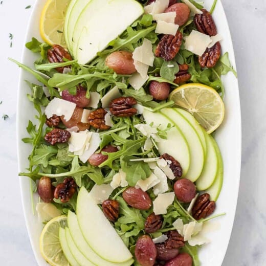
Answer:
<svg viewBox="0 0 266 266"><path fill-rule="evenodd" d="M210 136L210 135L209 135ZM211 136L210 136L211 137ZM217 201L221 187L223 187L223 181L224 181L224 164L223 164L223 158L221 157L220 149L216 143L216 141L211 137L213 146L215 148L217 159L218 159L218 171L215 177L215 180L210 188L206 190L206 193L210 194L210 200L211 201Z"/></svg>

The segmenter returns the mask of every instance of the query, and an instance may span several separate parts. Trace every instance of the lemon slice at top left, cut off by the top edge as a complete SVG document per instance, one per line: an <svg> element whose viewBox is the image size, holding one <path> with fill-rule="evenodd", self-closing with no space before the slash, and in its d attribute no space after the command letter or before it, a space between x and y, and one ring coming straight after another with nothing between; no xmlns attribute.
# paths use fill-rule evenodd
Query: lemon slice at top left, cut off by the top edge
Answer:
<svg viewBox="0 0 266 266"><path fill-rule="evenodd" d="M70 0L48 0L41 11L40 36L49 45L66 48L64 20Z"/></svg>

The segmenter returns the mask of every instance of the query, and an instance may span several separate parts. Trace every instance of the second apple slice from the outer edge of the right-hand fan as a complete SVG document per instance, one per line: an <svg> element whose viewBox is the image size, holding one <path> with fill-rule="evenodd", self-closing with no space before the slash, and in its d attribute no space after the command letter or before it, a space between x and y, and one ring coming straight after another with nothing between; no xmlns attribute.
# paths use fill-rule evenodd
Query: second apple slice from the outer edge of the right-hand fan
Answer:
<svg viewBox="0 0 266 266"><path fill-rule="evenodd" d="M207 156L205 165L200 178L196 181L197 190L203 191L208 189L214 182L218 172L218 156L213 145L212 137L206 134Z"/></svg>

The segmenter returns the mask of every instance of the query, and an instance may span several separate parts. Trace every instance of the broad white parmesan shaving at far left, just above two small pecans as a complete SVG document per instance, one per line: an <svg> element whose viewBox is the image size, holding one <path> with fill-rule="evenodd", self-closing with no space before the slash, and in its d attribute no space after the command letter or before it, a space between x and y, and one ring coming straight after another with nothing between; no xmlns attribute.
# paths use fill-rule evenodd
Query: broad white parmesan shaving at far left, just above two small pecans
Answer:
<svg viewBox="0 0 266 266"><path fill-rule="evenodd" d="M76 103L65 101L63 99L54 98L45 109L47 118L53 115L64 116L65 121L69 121L76 108Z"/></svg>

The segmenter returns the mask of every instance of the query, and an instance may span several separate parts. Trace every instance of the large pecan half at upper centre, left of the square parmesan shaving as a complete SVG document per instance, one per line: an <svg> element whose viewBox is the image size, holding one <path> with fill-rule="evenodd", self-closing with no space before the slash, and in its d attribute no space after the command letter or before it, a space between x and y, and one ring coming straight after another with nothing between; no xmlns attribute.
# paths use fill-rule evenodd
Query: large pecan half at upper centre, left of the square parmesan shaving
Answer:
<svg viewBox="0 0 266 266"><path fill-rule="evenodd" d="M172 60L178 54L182 45L183 35L180 31L173 35L164 35L155 51L157 57L162 57L166 61Z"/></svg>

